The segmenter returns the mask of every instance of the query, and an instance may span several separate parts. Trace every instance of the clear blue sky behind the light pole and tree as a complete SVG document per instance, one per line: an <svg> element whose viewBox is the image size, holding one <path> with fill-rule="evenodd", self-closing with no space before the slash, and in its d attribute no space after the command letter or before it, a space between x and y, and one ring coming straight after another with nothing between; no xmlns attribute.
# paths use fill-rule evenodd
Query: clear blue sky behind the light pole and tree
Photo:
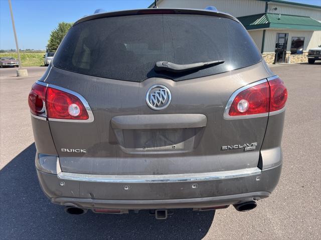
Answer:
<svg viewBox="0 0 321 240"><path fill-rule="evenodd" d="M292 0L321 5L321 0ZM145 8L153 0L12 0L19 48L45 49L50 32L61 21L73 22L92 14L95 9L107 11ZM0 49L15 49L15 38L8 0L0 0Z"/></svg>

